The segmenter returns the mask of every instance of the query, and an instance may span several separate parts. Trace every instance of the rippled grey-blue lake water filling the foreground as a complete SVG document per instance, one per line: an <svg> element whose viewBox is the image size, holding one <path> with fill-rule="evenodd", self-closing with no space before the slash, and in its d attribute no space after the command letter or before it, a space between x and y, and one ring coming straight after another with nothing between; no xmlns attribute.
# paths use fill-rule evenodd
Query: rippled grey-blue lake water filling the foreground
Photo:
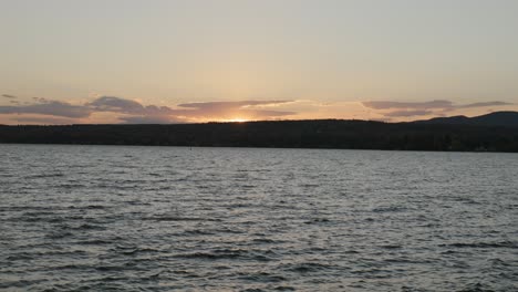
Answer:
<svg viewBox="0 0 518 292"><path fill-rule="evenodd" d="M518 290L517 154L0 145L0 290Z"/></svg>

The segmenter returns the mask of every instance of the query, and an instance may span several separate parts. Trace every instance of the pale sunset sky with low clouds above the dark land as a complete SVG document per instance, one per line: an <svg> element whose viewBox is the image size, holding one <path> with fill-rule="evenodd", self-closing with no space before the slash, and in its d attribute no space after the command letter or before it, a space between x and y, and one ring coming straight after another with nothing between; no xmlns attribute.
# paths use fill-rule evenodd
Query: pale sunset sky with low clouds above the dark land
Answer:
<svg viewBox="0 0 518 292"><path fill-rule="evenodd" d="M0 0L0 124L518 111L516 0Z"/></svg>

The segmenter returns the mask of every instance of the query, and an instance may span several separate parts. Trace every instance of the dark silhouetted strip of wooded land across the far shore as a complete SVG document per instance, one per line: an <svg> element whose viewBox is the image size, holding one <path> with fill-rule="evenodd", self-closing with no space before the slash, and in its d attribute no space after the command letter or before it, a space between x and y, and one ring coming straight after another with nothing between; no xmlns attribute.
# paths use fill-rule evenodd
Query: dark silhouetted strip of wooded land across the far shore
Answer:
<svg viewBox="0 0 518 292"><path fill-rule="evenodd" d="M0 143L518 152L518 113L412 123L315 119L0 126Z"/></svg>

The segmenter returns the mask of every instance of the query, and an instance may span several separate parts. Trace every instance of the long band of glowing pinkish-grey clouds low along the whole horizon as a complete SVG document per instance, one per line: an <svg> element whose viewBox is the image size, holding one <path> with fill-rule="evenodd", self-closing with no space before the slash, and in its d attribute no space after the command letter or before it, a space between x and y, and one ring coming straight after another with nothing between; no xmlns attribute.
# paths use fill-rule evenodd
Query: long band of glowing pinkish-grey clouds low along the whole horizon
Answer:
<svg viewBox="0 0 518 292"><path fill-rule="evenodd" d="M7 94L8 95L8 94ZM2 95L6 97L6 94ZM12 95L8 95L12 96ZM463 114L476 108L496 108L511 105L501 101L456 104L447 100L426 102L333 102L308 100L234 101L183 103L174 106L144 105L117 96L101 96L82 104L53 101L44 97L15 100L0 105L0 115L8 121L43 124L125 123L169 124L224 121L261 121L279 118L360 118L405 121L413 117L444 116L452 111ZM472 109L475 108L475 109ZM34 117L35 116L35 117Z"/></svg>

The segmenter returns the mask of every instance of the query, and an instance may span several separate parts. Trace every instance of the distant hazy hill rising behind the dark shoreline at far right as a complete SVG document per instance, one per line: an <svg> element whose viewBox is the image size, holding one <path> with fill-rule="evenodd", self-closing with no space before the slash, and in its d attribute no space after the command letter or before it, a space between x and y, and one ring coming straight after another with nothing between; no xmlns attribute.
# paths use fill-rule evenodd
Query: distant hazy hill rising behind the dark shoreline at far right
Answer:
<svg viewBox="0 0 518 292"><path fill-rule="evenodd" d="M476 125L476 126L505 126L518 127L518 112L495 112L481 116L450 116L435 117L426 121L413 122L416 124L441 124L441 125Z"/></svg>

